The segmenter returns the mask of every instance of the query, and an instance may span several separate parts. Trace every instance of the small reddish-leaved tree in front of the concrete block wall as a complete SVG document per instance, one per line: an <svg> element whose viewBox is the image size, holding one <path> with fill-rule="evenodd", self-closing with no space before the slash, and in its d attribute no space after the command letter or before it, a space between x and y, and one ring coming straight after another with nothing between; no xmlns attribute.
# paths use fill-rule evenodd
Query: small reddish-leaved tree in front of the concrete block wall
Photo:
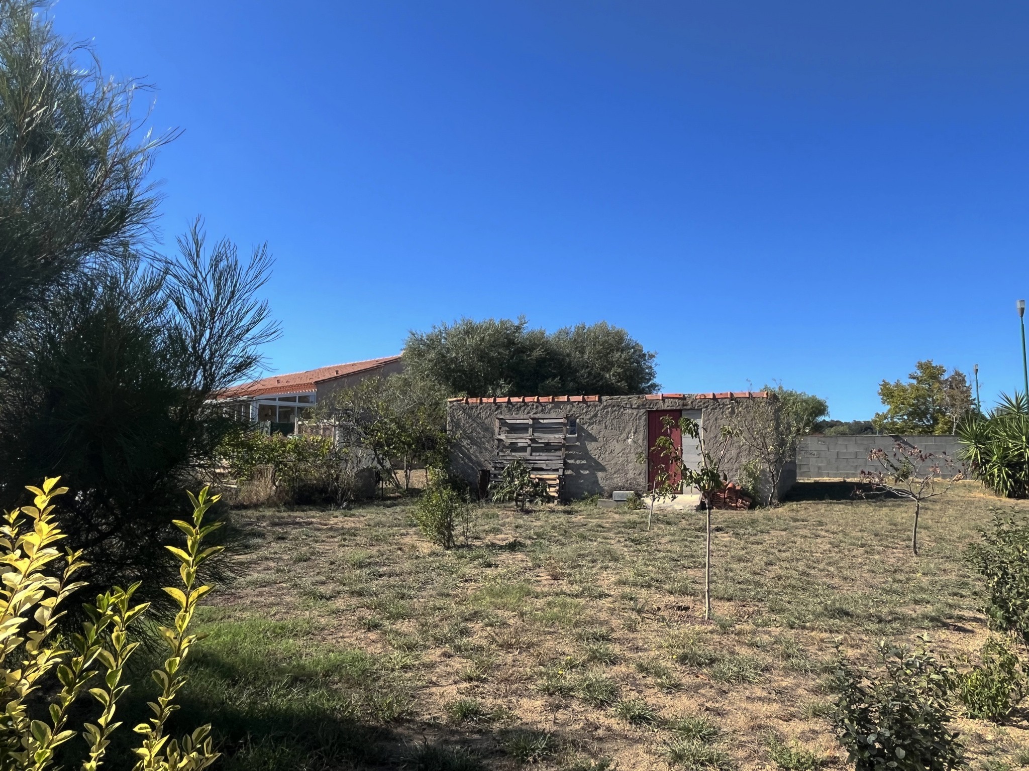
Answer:
<svg viewBox="0 0 1029 771"><path fill-rule="evenodd" d="M892 453L874 449L868 460L881 467L880 471L862 471L861 481L872 484L876 493L893 495L915 504L915 521L911 528L911 550L918 556L918 520L925 501L950 491L961 479L954 472L954 462L946 454L922 452L904 442L894 442Z"/></svg>

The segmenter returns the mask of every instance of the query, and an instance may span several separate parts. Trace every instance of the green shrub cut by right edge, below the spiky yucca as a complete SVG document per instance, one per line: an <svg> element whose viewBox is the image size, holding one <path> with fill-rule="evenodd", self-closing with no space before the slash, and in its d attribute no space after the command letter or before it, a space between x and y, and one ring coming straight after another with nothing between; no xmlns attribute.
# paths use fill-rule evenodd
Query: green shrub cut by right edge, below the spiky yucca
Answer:
<svg viewBox="0 0 1029 771"><path fill-rule="evenodd" d="M1029 646L1029 523L995 511L993 525L968 548L968 559L987 589L984 612L994 631Z"/></svg>

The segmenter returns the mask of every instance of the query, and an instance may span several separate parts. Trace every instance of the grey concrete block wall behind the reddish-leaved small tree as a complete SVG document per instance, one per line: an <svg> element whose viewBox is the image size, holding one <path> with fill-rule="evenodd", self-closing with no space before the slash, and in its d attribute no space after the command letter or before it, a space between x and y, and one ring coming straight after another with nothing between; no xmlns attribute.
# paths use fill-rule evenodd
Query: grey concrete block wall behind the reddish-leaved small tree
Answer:
<svg viewBox="0 0 1029 771"><path fill-rule="evenodd" d="M862 471L879 471L881 467L868 461L868 453L884 449L892 453L896 442L918 447L922 452L947 455L954 462L954 473L967 476L960 457L961 445L956 436L883 434L876 436L808 436L801 440L796 451L797 479L854 479ZM942 469L947 474L946 469Z"/></svg>

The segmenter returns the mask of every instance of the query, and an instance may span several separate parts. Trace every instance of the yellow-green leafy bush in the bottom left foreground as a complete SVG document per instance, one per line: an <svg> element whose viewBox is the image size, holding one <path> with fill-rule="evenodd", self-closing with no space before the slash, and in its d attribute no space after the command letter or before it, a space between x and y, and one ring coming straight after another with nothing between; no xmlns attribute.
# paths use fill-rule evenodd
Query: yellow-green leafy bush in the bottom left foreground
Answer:
<svg viewBox="0 0 1029 771"><path fill-rule="evenodd" d="M111 734L121 725L115 720L118 699L129 689L122 684L126 664L139 647L129 627L146 613L149 603L133 604L139 583L114 587L84 604L87 620L79 633L58 633L60 610L69 596L85 586L74 575L85 566L81 551L62 552L57 544L66 538L54 515L52 499L68 491L57 487L60 477L42 487L28 487L33 506L7 513L0 526L0 771L44 771L52 768L58 747L80 735L82 771L96 771L103 762ZM202 726L181 740L165 733L176 709L175 697L186 682L182 664L197 635L189 623L201 598L211 586L197 580L200 565L223 547L204 548L205 537L220 523L204 524L204 514L218 500L205 487L193 504L192 522L176 520L185 534L185 548L169 546L179 560L181 587L166 587L178 603L172 626L158 627L168 647L164 664L151 672L161 689L149 702L152 717L133 729L142 736L134 751L136 771L196 771L218 758ZM99 714L76 724L72 705L88 695ZM79 710L76 715L81 714ZM68 747L65 748L66 750Z"/></svg>

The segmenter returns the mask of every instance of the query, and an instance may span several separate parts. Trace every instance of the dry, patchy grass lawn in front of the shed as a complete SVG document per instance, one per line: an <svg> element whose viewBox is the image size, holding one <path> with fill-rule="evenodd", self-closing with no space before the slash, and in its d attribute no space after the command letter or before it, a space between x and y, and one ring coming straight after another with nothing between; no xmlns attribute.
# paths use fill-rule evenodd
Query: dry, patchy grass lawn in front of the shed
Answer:
<svg viewBox="0 0 1029 771"><path fill-rule="evenodd" d="M249 548L205 610L183 715L214 720L230 769L843 768L833 639L977 650L962 552L1012 504L959 485L914 557L910 506L826 492L716 512L712 622L697 513L647 531L645 512L486 506L447 552L410 501L239 512ZM959 724L973 768L1029 762L1021 718Z"/></svg>

